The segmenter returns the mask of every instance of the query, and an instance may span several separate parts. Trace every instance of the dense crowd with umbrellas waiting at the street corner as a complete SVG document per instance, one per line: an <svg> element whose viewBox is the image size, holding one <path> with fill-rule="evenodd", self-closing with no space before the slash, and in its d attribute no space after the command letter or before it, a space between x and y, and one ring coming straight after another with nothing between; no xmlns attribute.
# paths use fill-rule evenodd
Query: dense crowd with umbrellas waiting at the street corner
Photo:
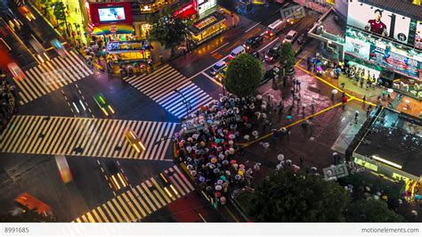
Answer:
<svg viewBox="0 0 422 237"><path fill-rule="evenodd" d="M262 116L256 113L257 104L255 96L221 96L191 114L175 137L178 156L195 184L219 203L224 204L231 191L251 184L260 170L260 163L240 160L243 150L238 145L242 135L256 132L257 116Z"/></svg>

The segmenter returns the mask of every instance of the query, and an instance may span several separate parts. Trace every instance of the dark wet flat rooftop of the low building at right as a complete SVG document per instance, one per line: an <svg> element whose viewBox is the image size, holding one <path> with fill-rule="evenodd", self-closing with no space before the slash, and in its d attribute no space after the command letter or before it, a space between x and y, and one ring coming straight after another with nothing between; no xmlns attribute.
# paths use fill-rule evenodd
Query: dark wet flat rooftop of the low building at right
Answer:
<svg viewBox="0 0 422 237"><path fill-rule="evenodd" d="M414 176L422 175L422 120L395 110L382 109L355 152L377 155Z"/></svg>

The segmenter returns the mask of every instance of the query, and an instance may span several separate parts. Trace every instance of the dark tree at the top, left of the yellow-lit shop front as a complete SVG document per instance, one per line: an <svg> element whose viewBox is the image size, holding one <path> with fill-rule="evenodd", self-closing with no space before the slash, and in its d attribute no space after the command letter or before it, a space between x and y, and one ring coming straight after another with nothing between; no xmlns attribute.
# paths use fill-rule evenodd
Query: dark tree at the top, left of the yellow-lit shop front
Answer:
<svg viewBox="0 0 422 237"><path fill-rule="evenodd" d="M152 18L150 37L166 49L172 50L186 41L188 37L188 24L186 20L174 18L170 13L159 14Z"/></svg>

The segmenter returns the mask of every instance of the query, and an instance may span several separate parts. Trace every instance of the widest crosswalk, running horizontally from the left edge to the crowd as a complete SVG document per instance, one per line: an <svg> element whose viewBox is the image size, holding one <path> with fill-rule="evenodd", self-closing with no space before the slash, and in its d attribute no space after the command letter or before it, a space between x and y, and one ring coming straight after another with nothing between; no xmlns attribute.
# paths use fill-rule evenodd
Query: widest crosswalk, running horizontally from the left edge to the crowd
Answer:
<svg viewBox="0 0 422 237"><path fill-rule="evenodd" d="M176 123L121 119L13 116L0 135L0 151L120 159L164 160ZM145 145L137 153L126 141L131 128ZM158 143L156 143L158 142Z"/></svg>

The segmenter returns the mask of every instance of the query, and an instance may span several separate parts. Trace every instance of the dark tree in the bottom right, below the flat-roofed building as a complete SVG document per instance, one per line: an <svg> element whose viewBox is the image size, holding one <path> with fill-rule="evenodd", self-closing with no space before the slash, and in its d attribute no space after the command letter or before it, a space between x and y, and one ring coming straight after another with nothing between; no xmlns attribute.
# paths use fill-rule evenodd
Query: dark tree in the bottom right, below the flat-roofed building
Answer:
<svg viewBox="0 0 422 237"><path fill-rule="evenodd" d="M382 200L354 200L345 211L350 222L403 222L404 217L388 208Z"/></svg>

